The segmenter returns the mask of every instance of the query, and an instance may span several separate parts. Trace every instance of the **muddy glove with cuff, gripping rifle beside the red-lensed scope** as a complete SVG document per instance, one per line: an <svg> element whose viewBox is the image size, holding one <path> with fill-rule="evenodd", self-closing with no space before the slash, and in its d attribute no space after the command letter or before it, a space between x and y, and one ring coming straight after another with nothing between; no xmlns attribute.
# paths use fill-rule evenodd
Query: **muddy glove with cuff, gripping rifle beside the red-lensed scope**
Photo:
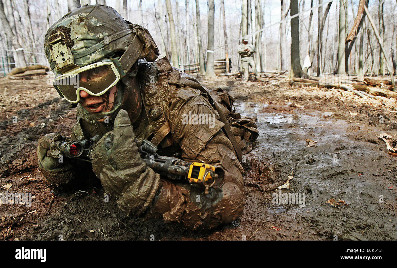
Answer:
<svg viewBox="0 0 397 268"><path fill-rule="evenodd" d="M72 166L69 159L66 159L66 157L54 158L48 156L60 154L60 152L50 150L50 145L60 140L65 140L65 137L59 133L50 133L40 138L37 145L39 167L45 178L56 186L67 184L73 178Z"/></svg>

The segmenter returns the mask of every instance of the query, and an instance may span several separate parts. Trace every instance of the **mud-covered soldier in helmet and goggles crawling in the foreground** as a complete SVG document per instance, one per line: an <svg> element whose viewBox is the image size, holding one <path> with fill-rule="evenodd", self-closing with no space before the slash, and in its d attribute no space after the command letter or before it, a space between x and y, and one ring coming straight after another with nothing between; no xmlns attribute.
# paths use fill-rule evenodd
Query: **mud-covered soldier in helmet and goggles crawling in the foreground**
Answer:
<svg viewBox="0 0 397 268"><path fill-rule="evenodd" d="M251 151L258 130L255 118L234 112L226 91L209 91L166 57L158 59L147 29L108 6L67 13L48 29L44 47L54 87L77 107L68 139L102 137L94 144L92 164L54 158L59 152L51 145L66 139L59 133L40 138L39 167L53 186L73 185L93 172L126 213L161 217L189 229L209 229L241 216L244 170L239 160ZM67 82L76 77L78 85ZM198 114L213 115L214 121L184 120ZM224 185L205 194L204 188L160 176L138 152L137 144L145 139L160 155L222 166Z"/></svg>

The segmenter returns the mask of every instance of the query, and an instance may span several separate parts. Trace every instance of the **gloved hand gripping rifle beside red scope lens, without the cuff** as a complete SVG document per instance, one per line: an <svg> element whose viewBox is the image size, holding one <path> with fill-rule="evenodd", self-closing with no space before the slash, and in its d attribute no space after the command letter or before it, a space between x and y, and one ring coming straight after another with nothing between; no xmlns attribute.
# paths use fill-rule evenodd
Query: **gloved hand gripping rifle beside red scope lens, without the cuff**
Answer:
<svg viewBox="0 0 397 268"><path fill-rule="evenodd" d="M37 145L37 157L39 158L39 167L48 172L59 172L65 169L67 159L65 157L50 157L48 155L57 155L54 151L50 151L50 145L53 142L65 140L64 136L59 133L46 134L40 138Z"/></svg>

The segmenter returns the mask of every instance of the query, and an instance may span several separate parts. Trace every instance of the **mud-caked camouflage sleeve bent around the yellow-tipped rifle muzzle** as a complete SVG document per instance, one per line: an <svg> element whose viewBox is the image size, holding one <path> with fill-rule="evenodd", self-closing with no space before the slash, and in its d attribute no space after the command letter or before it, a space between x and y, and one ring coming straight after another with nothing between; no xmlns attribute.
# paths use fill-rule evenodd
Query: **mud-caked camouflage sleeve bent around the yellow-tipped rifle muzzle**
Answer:
<svg viewBox="0 0 397 268"><path fill-rule="evenodd" d="M206 195L203 188L162 180L152 212L160 213L166 222L181 222L185 228L196 230L232 222L243 212L244 170L222 130L223 123L217 119L208 124L186 121L187 116L194 114L217 115L199 90L179 88L171 99L170 125L175 142L183 149L182 158L222 165L225 184Z"/></svg>

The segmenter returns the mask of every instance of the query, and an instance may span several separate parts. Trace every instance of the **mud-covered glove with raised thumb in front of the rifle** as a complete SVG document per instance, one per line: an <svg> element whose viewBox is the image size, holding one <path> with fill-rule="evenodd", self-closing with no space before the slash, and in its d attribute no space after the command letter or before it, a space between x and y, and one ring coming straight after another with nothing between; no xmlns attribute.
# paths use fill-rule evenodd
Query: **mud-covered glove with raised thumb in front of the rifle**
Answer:
<svg viewBox="0 0 397 268"><path fill-rule="evenodd" d="M119 111L114 129L95 145L92 163L106 192L119 197L123 211L141 213L152 203L160 187L160 175L142 161L125 110Z"/></svg>

